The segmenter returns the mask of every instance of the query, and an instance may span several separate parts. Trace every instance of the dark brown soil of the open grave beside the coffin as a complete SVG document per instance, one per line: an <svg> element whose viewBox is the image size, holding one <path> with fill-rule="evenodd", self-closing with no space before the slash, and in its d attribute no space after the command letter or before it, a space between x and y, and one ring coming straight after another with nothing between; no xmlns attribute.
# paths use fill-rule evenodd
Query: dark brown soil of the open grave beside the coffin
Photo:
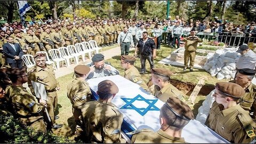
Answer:
<svg viewBox="0 0 256 144"><path fill-rule="evenodd" d="M178 90L184 92L187 95L190 95L190 93L194 90L194 87L196 84L190 83L190 82L181 82L176 79L171 79L171 84L175 87L177 87ZM200 95L207 95L212 90L214 90L214 85L206 84L202 87L202 89L199 91Z"/></svg>

